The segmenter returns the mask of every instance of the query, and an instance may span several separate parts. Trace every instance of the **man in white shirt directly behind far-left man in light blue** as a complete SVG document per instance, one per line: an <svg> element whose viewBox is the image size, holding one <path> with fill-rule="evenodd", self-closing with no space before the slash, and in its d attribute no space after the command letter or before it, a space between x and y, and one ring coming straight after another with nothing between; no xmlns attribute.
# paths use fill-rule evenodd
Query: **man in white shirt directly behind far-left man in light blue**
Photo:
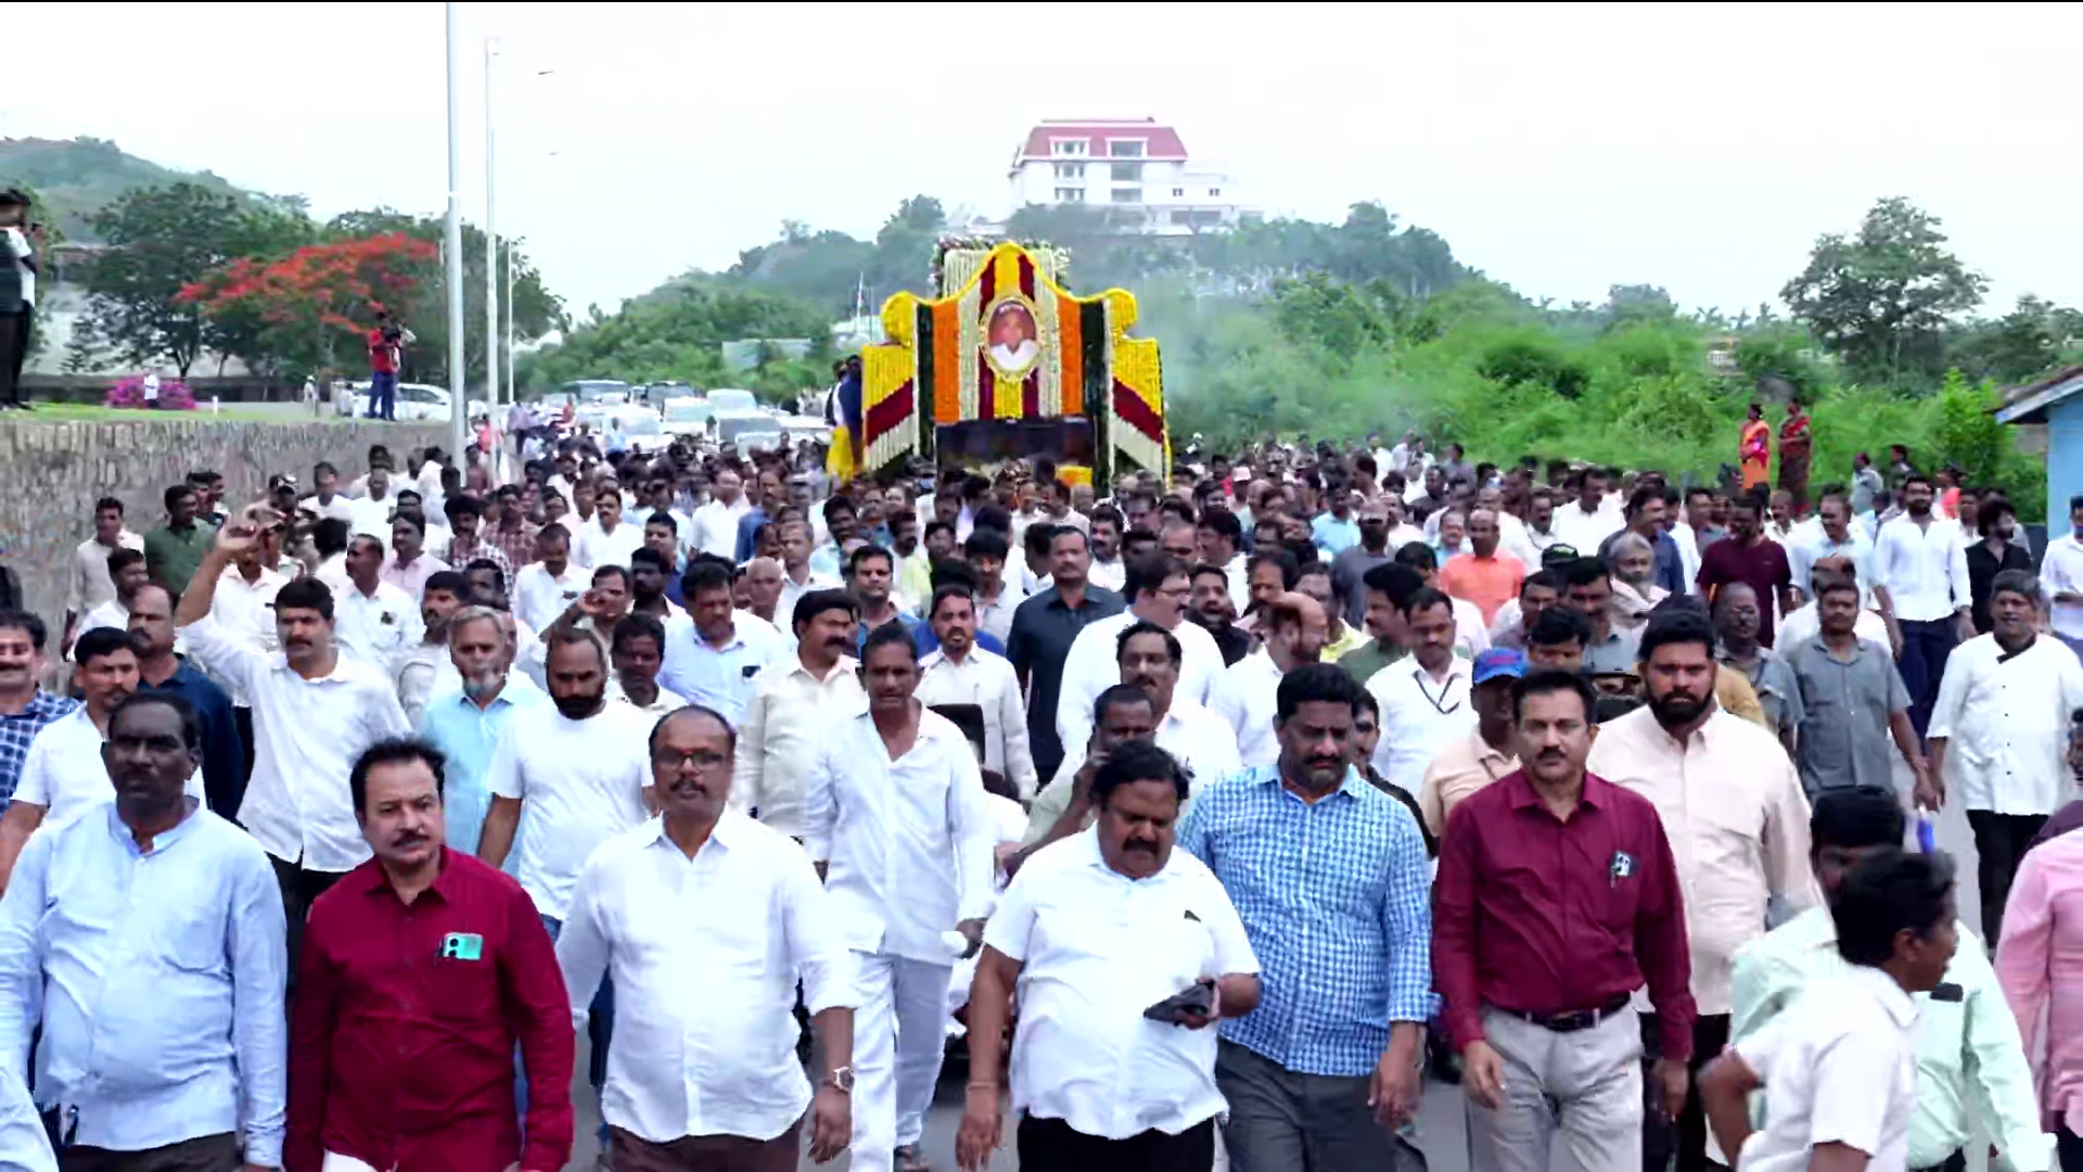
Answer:
<svg viewBox="0 0 2083 1172"><path fill-rule="evenodd" d="M108 740L108 713L137 692L137 651L129 632L108 628L79 636L73 651L73 686L83 703L37 732L29 744L15 801L0 817L0 888L37 826L71 822L83 809L108 801L102 744ZM187 778L187 792L202 801L200 770Z"/></svg>

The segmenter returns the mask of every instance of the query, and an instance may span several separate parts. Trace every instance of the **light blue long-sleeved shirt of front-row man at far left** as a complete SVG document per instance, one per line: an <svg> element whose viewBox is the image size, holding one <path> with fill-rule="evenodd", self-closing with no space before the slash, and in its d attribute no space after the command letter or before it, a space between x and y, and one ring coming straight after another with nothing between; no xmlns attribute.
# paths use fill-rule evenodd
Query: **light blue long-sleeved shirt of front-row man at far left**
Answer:
<svg viewBox="0 0 2083 1172"><path fill-rule="evenodd" d="M0 901L0 1064L75 1143L146 1151L242 1130L281 1164L281 893L244 830L196 809L140 853L115 803L29 838ZM77 1114L77 1116L75 1116Z"/></svg>

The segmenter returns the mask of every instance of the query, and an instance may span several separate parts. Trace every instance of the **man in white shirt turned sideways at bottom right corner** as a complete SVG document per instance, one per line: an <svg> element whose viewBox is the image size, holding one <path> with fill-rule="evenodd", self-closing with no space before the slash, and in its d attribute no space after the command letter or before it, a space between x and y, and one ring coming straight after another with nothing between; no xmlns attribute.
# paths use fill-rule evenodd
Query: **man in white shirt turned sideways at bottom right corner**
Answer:
<svg viewBox="0 0 2083 1172"><path fill-rule="evenodd" d="M1954 932L1952 861L1900 849L1868 855L1831 905L1852 972L1735 1043L1700 1076L1723 1151L1743 1172L1889 1172L1908 1166L1916 1114L1912 995L1946 978ZM1750 1095L1764 1091L1764 1130Z"/></svg>

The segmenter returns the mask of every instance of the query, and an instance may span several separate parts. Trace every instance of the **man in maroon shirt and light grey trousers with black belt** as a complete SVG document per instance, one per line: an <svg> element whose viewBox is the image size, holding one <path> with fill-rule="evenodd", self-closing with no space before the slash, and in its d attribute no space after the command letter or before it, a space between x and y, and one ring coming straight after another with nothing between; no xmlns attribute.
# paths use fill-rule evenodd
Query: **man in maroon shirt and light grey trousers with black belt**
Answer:
<svg viewBox="0 0 2083 1172"><path fill-rule="evenodd" d="M1583 770L1591 686L1512 684L1523 767L1448 815L1433 884L1433 982L1462 1053L1475 1168L1637 1172L1648 984L1662 1105L1685 1103L1693 999L1685 909L1648 799ZM1558 1137L1560 1132L1560 1137Z"/></svg>

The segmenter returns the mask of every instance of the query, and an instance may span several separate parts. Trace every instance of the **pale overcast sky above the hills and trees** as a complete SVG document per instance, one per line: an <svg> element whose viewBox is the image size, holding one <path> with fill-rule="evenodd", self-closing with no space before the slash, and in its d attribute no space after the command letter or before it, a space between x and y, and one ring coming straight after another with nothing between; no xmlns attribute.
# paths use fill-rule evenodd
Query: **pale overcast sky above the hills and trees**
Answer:
<svg viewBox="0 0 2083 1172"><path fill-rule="evenodd" d="M2083 302L2073 6L456 8L465 215L496 35L500 225L575 311L783 219L869 236L914 192L1002 215L1033 121L1146 115L1269 213L1381 200L1529 296L1754 307L1904 194L1991 309ZM442 4L17 4L8 29L35 48L0 136L110 138L319 215L444 209Z"/></svg>

